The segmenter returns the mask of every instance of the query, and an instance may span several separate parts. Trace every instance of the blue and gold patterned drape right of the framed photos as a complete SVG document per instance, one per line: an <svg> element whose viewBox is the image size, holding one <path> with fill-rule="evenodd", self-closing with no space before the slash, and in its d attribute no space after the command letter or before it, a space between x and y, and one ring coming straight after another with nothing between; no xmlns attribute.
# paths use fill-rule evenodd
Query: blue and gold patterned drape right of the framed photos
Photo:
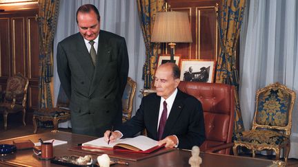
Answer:
<svg viewBox="0 0 298 167"><path fill-rule="evenodd" d="M245 0L224 0L219 8L219 57L217 60L216 82L235 86L235 133L244 131L238 98L239 74L236 68L236 49Z"/></svg>

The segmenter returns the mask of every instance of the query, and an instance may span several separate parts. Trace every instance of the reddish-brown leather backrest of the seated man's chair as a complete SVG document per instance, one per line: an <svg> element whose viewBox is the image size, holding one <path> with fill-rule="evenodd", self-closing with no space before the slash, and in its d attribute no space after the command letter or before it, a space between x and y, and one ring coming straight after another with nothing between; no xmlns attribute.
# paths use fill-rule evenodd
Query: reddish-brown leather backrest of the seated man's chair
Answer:
<svg viewBox="0 0 298 167"><path fill-rule="evenodd" d="M235 114L235 88L230 85L181 81L178 88L195 96L202 106L206 140L201 151L232 142ZM230 148L218 153L230 154Z"/></svg>

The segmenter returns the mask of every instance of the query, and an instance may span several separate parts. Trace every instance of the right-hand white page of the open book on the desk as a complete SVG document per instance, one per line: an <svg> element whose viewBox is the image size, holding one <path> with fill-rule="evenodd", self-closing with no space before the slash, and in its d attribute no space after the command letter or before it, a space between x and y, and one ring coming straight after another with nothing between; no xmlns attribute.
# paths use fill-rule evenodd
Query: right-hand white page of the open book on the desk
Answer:
<svg viewBox="0 0 298 167"><path fill-rule="evenodd" d="M128 138L127 140L123 140L119 142L119 144L128 144L130 146L135 146L139 148L141 151L146 151L152 147L157 146L158 142L156 140L150 139L149 137L139 135L134 138Z"/></svg>

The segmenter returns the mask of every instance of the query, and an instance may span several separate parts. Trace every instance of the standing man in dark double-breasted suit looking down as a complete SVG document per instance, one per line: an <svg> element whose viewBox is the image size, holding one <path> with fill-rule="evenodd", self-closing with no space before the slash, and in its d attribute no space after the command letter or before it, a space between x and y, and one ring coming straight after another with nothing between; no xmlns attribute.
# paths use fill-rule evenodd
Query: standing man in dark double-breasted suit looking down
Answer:
<svg viewBox="0 0 298 167"><path fill-rule="evenodd" d="M57 46L57 71L70 99L72 132L101 137L121 124L121 97L128 77L126 41L100 30L94 5L77 10L79 33Z"/></svg>

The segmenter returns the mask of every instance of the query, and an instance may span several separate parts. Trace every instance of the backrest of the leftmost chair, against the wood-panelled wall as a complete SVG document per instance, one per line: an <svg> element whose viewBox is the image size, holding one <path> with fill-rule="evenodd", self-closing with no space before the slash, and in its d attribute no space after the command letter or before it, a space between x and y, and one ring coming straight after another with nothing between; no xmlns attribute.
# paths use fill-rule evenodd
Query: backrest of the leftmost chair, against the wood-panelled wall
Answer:
<svg viewBox="0 0 298 167"><path fill-rule="evenodd" d="M20 73L8 78L4 101L12 102L13 99L15 98L16 104L21 104L23 105L23 107L25 107L28 85L29 85L28 78L25 78Z"/></svg>

